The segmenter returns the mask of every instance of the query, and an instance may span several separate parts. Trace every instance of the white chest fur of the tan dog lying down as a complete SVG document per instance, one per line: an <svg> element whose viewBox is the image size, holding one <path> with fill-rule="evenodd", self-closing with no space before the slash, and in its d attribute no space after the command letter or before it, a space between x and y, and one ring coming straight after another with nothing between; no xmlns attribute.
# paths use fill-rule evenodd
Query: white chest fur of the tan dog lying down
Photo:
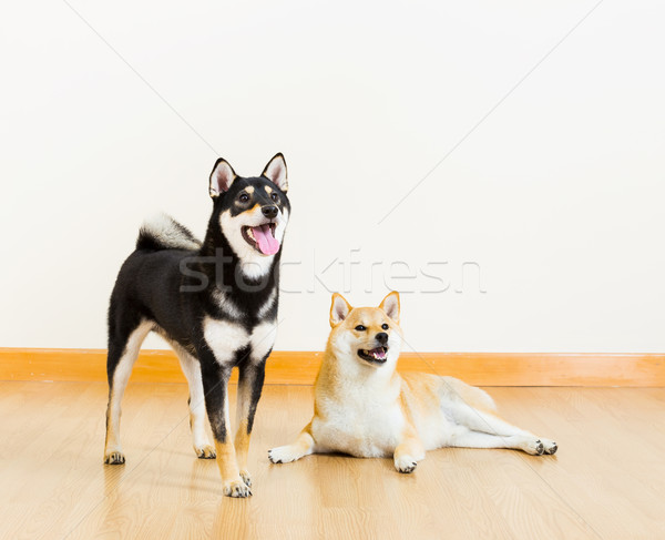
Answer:
<svg viewBox="0 0 665 540"><path fill-rule="evenodd" d="M399 444L405 418L393 393L354 385L344 393L317 396L311 431L317 451L357 457L390 457Z"/></svg>

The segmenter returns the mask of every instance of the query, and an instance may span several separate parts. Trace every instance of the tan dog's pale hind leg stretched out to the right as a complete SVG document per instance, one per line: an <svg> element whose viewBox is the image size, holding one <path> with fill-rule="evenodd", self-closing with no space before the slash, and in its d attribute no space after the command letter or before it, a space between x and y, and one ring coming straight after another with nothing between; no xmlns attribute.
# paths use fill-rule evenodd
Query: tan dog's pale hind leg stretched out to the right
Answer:
<svg viewBox="0 0 665 540"><path fill-rule="evenodd" d="M525 429L513 426L493 412L479 410L469 405L456 412L456 420L471 431L495 436L504 441L503 446L488 448L514 448L532 455L554 454L557 449L557 445L553 440L538 437Z"/></svg>

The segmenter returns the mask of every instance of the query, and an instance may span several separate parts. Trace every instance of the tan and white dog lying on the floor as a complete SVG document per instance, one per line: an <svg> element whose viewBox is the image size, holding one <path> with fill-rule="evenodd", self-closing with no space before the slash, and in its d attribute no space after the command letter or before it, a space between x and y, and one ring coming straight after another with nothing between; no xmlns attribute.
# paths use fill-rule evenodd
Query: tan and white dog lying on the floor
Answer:
<svg viewBox="0 0 665 540"><path fill-rule="evenodd" d="M441 447L556 451L554 441L499 418L480 388L452 377L400 376L395 370L402 342L397 293L379 307L359 308L335 294L330 326L314 418L293 445L269 451L274 463L340 451L392 457L398 471L412 472L426 450Z"/></svg>

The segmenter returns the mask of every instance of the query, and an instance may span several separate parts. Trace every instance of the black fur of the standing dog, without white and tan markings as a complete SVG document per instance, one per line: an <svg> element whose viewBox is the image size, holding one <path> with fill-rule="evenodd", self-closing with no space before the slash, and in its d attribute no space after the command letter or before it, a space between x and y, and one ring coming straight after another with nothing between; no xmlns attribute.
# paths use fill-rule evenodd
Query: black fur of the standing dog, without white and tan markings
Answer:
<svg viewBox="0 0 665 540"><path fill-rule="evenodd" d="M244 193L248 186L254 187L250 200L246 204L241 203L238 194ZM278 201L273 198L274 195L268 193L266 186L277 194ZM241 261L219 225L223 212L231 211L232 216L237 216L255 208L257 204L262 208L277 206L282 213L286 210L290 214L286 193L270 180L263 175L236 176L227 192L213 198L213 212L203 243L183 225L172 223L171 232L182 238L183 247L200 246L197 249L176 248L173 235L164 242L158 232L142 227L136 249L122 265L111 295L106 365L110 404L114 373L125 351L127 339L142 323L147 322L152 325L152 330L180 345L198 360L208 419L215 439L221 442L227 441L229 435L224 421L228 378L234 367L239 368L241 385L249 385L250 388L246 420L247 431L252 431L269 351L260 361L249 361L252 345L248 343L221 365L206 343L203 320L206 317L233 319L233 323L242 325L249 334L258 324L276 320L282 248L273 255L270 271L264 277L244 277L239 271ZM238 276L242 283L238 282ZM242 308L239 316L229 317L218 304L215 298L218 291L224 291L226 297ZM266 305L272 295L276 295L272 307L267 313L264 308L264 313L259 314L260 307Z"/></svg>

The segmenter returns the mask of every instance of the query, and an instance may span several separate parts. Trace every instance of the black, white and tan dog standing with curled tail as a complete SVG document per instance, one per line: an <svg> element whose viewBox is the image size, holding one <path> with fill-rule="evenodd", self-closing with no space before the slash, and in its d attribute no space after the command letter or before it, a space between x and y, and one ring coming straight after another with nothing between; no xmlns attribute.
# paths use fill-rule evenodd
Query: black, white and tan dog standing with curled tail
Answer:
<svg viewBox="0 0 665 540"><path fill-rule="evenodd" d="M247 451L265 364L277 330L278 265L290 205L287 171L275 155L257 177L217 160L213 214L203 243L168 216L143 225L109 308L109 407L104 462L124 463L120 404L145 336L175 350L190 384L190 425L200 458L217 458L224 495L252 495ZM235 441L227 385L239 368ZM205 403L205 409L204 409ZM205 410L213 447L205 434Z"/></svg>

